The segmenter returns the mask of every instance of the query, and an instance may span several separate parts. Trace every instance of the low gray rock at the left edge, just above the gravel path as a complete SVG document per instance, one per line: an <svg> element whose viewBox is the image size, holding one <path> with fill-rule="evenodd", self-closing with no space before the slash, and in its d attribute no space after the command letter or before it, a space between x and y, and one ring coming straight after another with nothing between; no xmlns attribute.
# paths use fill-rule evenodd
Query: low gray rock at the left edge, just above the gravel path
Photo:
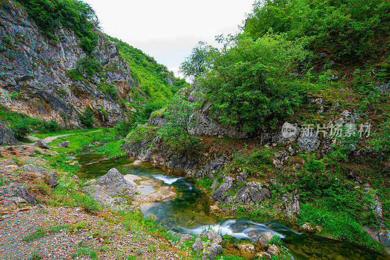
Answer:
<svg viewBox="0 0 390 260"><path fill-rule="evenodd" d="M37 202L23 185L10 184L0 186L0 207L17 206L19 204L36 205Z"/></svg>

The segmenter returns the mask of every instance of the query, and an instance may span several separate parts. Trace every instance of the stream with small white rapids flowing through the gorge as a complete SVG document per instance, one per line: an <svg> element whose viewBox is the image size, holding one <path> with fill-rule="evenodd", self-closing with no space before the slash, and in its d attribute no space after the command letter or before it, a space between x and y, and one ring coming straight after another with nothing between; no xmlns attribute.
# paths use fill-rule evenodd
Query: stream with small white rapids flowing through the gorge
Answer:
<svg viewBox="0 0 390 260"><path fill-rule="evenodd" d="M282 238L293 260L385 260L377 253L351 243L334 241L316 235L294 231L293 226L271 221L256 223L247 219L230 219L219 222L210 214L209 198L198 190L191 180L167 174L152 165L133 166L134 161L128 158L108 159L96 153L96 147L86 147L77 156L81 164L79 177L97 179L113 167L125 175L134 174L161 180L161 185L175 186L178 196L175 199L159 203L142 204L141 211L145 218L157 218L168 228L180 233L200 234L209 226L222 234L237 239L252 240L254 233L272 232ZM152 186L138 186L141 193L151 193Z"/></svg>

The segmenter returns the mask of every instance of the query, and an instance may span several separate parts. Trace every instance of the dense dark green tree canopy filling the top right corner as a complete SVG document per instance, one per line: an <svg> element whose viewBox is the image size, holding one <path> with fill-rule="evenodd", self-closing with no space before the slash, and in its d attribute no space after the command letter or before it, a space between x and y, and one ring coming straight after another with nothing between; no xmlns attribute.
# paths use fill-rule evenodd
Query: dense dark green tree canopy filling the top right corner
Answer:
<svg viewBox="0 0 390 260"><path fill-rule="evenodd" d="M372 52L377 35L389 31L389 11L387 0L257 1L244 30L256 40L272 28L289 39L310 37L315 48L325 45L338 57L360 55Z"/></svg>

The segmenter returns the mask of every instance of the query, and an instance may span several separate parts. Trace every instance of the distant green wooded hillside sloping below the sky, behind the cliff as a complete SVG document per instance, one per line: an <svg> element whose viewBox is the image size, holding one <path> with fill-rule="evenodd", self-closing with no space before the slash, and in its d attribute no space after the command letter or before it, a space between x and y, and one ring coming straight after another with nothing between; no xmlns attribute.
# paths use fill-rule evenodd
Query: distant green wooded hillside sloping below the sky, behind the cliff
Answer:
<svg viewBox="0 0 390 260"><path fill-rule="evenodd" d="M185 80L175 78L167 67L157 63L153 57L117 38L107 37L118 46L121 56L130 65L132 71L137 74L133 80L139 84L142 92L152 98L152 102L166 102L177 90L188 86ZM170 81L173 82L173 86L171 86Z"/></svg>

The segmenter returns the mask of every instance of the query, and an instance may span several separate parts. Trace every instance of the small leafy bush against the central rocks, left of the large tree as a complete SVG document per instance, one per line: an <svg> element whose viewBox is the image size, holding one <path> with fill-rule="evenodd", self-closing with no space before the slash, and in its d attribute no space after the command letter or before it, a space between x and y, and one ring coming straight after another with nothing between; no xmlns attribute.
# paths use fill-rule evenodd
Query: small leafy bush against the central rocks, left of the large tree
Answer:
<svg viewBox="0 0 390 260"><path fill-rule="evenodd" d="M195 111L195 105L184 99L182 95L175 96L168 106L165 123L159 130L161 136L176 142L181 149L192 149L198 147L198 138L194 137L190 130L196 125L196 120L191 117Z"/></svg>

